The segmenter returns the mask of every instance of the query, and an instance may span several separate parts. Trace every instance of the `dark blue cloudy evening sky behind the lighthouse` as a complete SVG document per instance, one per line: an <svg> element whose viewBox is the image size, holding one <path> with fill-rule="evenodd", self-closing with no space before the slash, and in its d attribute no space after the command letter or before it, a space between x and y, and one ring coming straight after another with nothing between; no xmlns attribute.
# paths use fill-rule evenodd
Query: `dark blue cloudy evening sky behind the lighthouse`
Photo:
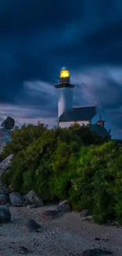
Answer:
<svg viewBox="0 0 122 256"><path fill-rule="evenodd" d="M57 124L54 84L64 65L74 106L97 102L122 139L122 1L1 0L0 121Z"/></svg>

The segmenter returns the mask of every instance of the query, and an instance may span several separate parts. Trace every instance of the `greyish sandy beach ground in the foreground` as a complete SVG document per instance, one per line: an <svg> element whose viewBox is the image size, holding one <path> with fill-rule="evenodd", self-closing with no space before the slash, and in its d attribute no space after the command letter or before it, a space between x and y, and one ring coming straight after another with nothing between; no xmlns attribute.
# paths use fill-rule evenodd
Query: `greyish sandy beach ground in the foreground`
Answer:
<svg viewBox="0 0 122 256"><path fill-rule="evenodd" d="M73 212L53 221L43 220L41 213L47 209L53 206L10 207L11 223L0 225L0 256L80 256L83 250L92 248L111 250L113 255L122 256L122 228L91 224ZM40 232L25 232L24 221L30 218L41 225Z"/></svg>

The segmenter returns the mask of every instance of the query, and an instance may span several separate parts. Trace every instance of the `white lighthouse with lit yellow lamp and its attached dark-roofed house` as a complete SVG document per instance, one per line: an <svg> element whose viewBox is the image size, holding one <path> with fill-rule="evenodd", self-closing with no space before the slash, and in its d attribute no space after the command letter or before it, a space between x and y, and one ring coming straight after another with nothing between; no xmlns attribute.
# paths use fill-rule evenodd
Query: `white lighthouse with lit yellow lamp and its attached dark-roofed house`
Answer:
<svg viewBox="0 0 122 256"><path fill-rule="evenodd" d="M107 137L108 139L111 138L111 135L105 128L104 121L98 115L96 106L73 106L73 88L75 85L70 83L68 69L61 69L60 81L54 87L57 88L59 93L58 127L68 128L72 124L87 125L91 128L91 131L96 132L98 135Z"/></svg>

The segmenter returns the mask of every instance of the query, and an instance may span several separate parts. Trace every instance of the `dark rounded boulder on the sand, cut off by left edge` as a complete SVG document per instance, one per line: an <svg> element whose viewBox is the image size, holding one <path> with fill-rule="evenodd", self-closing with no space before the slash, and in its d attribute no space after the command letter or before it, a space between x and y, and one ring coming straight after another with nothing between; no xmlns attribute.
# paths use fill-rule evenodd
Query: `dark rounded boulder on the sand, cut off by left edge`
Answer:
<svg viewBox="0 0 122 256"><path fill-rule="evenodd" d="M7 223L11 221L11 214L9 211L9 207L0 206L0 224Z"/></svg>

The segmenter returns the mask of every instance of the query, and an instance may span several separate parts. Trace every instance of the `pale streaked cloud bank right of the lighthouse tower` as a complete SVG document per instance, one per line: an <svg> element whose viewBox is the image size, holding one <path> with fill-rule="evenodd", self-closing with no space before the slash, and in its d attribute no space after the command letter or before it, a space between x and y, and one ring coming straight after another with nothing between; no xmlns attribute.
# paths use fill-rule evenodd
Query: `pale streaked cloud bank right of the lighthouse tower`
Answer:
<svg viewBox="0 0 122 256"><path fill-rule="evenodd" d="M119 70L119 69L117 69ZM75 106L98 106L98 112L106 121L106 128L116 130L122 138L122 75L109 67L92 67L72 75L76 81ZM121 130L121 132L120 132ZM115 132L114 132L115 133Z"/></svg>

